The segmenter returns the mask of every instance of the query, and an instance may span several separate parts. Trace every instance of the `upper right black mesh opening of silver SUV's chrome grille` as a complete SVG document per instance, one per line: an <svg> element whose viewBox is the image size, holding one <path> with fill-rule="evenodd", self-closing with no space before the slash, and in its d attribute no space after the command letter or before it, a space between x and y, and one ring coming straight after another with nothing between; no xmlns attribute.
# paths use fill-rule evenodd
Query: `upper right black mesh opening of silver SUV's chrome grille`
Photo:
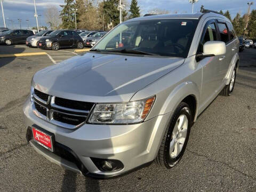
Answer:
<svg viewBox="0 0 256 192"><path fill-rule="evenodd" d="M90 103L90 102L74 101L74 100L63 99L58 97L55 97L54 103L57 106L66 107L69 109L85 110L85 111L90 111L93 106L93 103Z"/></svg>

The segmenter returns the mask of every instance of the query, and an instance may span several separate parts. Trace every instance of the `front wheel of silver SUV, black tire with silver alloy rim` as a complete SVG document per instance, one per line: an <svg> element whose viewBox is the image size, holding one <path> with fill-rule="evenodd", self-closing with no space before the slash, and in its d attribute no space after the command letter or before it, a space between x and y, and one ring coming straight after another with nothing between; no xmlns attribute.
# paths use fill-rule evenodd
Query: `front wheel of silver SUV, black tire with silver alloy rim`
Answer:
<svg viewBox="0 0 256 192"><path fill-rule="evenodd" d="M183 126L182 122L185 122L183 123ZM187 103L181 102L175 109L169 125L164 133L161 146L155 159L156 164L164 167L165 169L171 169L174 165L179 163L188 143L191 125L192 115L189 106ZM179 128L179 126L182 127ZM181 136L181 133L183 133L183 137ZM178 146L179 149L181 147L179 153Z"/></svg>

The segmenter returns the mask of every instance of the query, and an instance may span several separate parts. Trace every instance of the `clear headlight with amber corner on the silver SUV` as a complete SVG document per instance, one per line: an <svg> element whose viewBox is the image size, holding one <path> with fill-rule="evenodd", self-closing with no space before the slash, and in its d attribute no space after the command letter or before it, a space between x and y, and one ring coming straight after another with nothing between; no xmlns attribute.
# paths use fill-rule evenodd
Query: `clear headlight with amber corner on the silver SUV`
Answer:
<svg viewBox="0 0 256 192"><path fill-rule="evenodd" d="M94 124L140 123L148 115L154 101L155 96L128 103L97 104L88 122Z"/></svg>

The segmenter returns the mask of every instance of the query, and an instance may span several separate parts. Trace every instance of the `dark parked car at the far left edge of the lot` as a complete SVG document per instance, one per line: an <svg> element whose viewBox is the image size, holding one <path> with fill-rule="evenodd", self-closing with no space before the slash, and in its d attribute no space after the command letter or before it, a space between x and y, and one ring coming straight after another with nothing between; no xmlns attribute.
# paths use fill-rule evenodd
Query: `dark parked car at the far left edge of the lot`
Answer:
<svg viewBox="0 0 256 192"><path fill-rule="evenodd" d="M33 31L31 30L23 30L23 29L16 29L16 30L7 30L4 33L0 34L1 43L5 43L6 45L11 45L15 43L26 43L26 39L29 36L34 35Z"/></svg>

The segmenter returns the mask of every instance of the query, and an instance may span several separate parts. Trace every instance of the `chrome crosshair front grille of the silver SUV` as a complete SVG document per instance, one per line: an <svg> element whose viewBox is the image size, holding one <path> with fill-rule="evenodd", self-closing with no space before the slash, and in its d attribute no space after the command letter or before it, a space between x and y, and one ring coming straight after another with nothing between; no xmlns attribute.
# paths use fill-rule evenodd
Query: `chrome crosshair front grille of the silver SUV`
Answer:
<svg viewBox="0 0 256 192"><path fill-rule="evenodd" d="M43 96L41 95L41 97L38 97L36 93L42 94ZM62 100L61 102L63 101L69 102L68 105L65 105L65 106L70 107L71 106L70 103L72 104L77 102L77 105L75 105L75 107L77 106L79 107L79 105L81 106L81 103L82 104L85 103L84 108L90 107L90 110L67 108L67 107L56 105L54 102L56 97L54 96L48 95L43 92L39 92L38 90L36 91L36 93L34 89L31 90L31 94L32 94L31 98L33 99L32 108L33 108L34 114L44 119L45 121L48 121L54 125L65 127L67 129L76 129L77 127L84 124L87 121L87 117L89 116L89 113L94 105L93 103L89 103L89 102L67 100L67 99L60 98ZM46 97L48 97L47 101L45 101ZM46 116L45 116L45 111L43 111L42 108L38 106L41 106L46 109ZM42 112L43 114L40 112Z"/></svg>

